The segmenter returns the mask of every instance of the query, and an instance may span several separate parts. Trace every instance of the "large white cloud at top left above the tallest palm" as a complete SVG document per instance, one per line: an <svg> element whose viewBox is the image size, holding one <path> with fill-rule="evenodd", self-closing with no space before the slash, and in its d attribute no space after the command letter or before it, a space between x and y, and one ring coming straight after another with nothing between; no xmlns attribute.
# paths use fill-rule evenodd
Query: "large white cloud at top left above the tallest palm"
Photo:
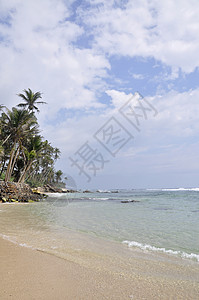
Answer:
<svg viewBox="0 0 199 300"><path fill-rule="evenodd" d="M4 19L5 11L10 19L0 27L2 102L16 105L16 94L30 87L44 93L48 114L100 106L96 93L110 65L93 49L74 46L84 29L67 20L70 7L61 0L5 2Z"/></svg>

